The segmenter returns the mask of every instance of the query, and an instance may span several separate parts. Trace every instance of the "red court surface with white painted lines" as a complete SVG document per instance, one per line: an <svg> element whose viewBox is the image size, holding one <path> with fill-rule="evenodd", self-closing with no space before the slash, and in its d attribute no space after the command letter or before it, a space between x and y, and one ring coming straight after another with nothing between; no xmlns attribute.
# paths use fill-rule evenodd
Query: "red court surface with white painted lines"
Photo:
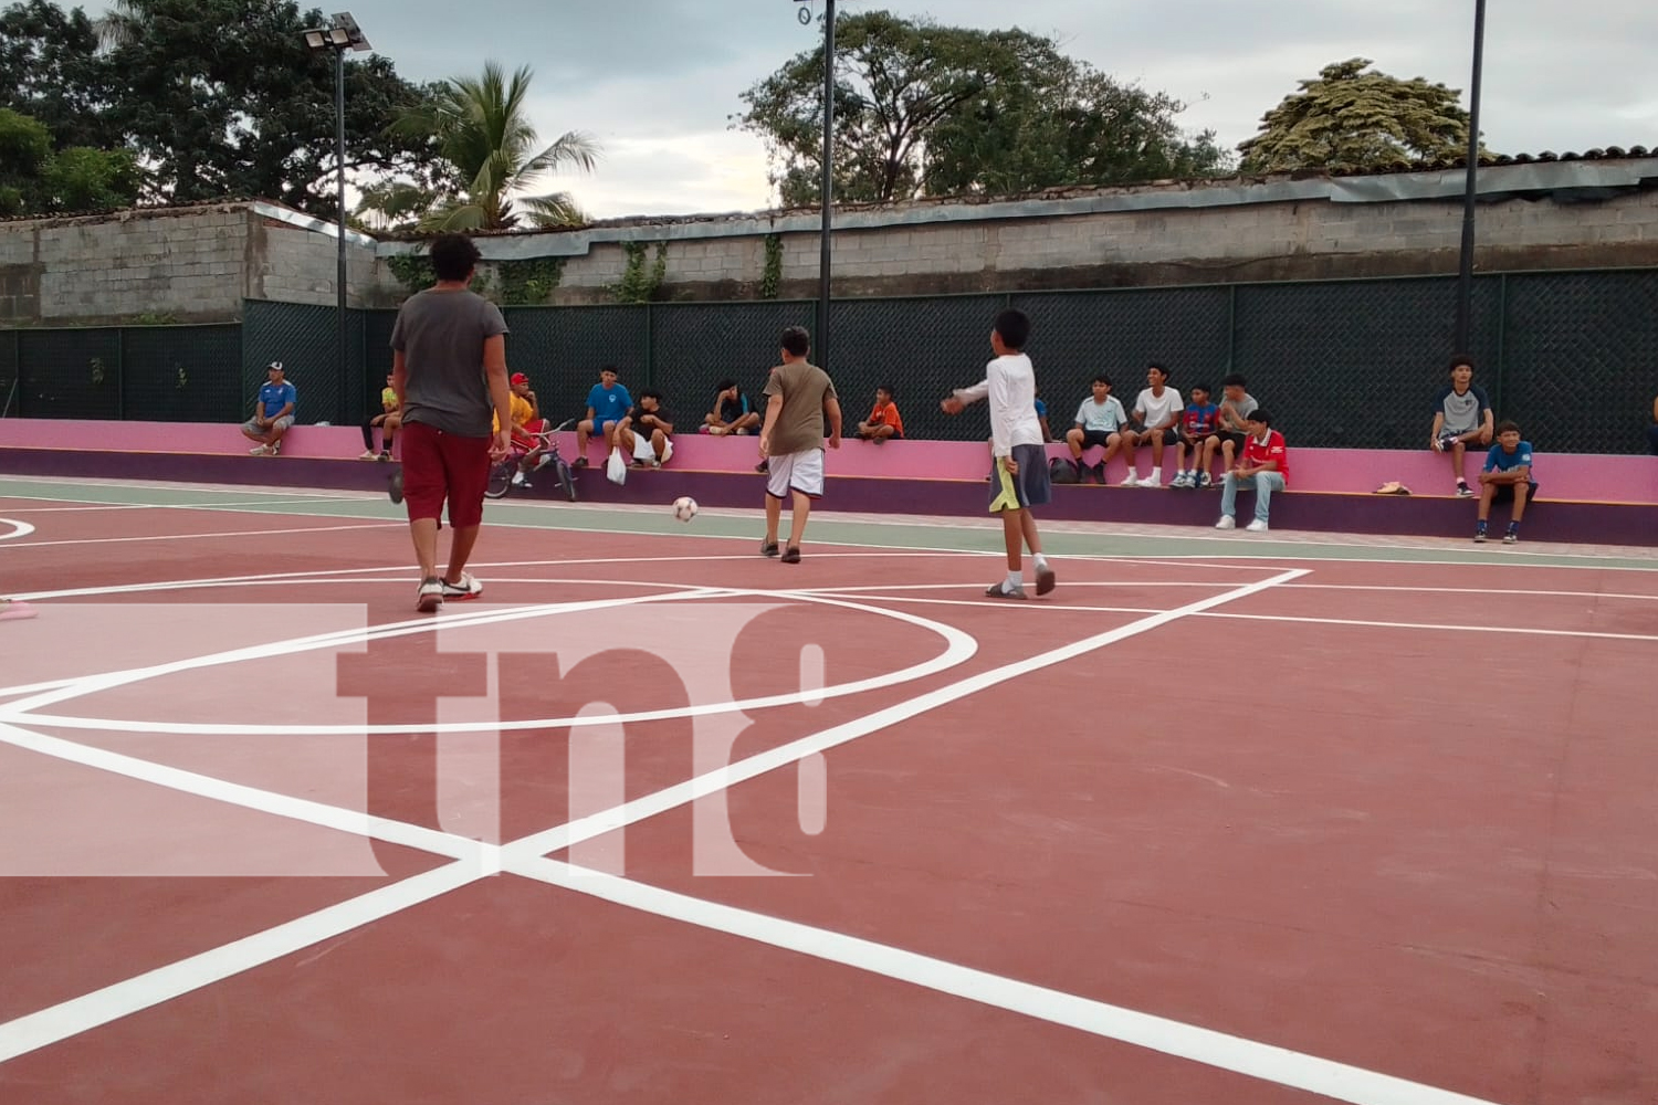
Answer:
<svg viewBox="0 0 1658 1105"><path fill-rule="evenodd" d="M5 1105L1658 1100L1658 573L48 505Z"/></svg>

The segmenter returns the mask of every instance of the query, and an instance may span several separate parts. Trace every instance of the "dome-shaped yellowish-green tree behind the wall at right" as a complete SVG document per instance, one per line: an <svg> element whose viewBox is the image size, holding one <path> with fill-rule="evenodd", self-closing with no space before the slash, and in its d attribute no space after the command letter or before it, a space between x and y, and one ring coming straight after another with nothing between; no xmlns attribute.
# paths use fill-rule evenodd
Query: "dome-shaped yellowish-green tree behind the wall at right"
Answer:
<svg viewBox="0 0 1658 1105"><path fill-rule="evenodd" d="M1404 169L1466 154L1469 116L1457 89L1370 65L1350 58L1300 81L1300 91L1262 116L1260 133L1239 144L1242 169Z"/></svg>

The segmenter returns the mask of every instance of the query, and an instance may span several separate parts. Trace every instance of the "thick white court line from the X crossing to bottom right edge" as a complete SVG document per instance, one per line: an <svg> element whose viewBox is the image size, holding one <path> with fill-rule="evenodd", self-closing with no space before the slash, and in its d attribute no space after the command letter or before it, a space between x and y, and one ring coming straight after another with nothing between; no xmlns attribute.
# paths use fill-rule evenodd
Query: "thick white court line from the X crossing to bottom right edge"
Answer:
<svg viewBox="0 0 1658 1105"><path fill-rule="evenodd" d="M715 933L781 948L824 963L867 971L920 986L938 994L1006 1009L1035 1021L1078 1029L1091 1035L1185 1059L1204 1067L1230 1070L1275 1085L1321 1093L1351 1105L1492 1105L1491 1102L1441 1090L1419 1082L1350 1067L1330 1059L1293 1052L1287 1047L1202 1029L1169 1017L1111 1006L1091 997L1020 982L1000 974L965 967L920 953L877 944L870 939L814 928L799 921L739 910L691 898L617 875L572 866L557 860L519 858L514 875L534 878L560 890L610 901L628 910L695 924Z"/></svg>

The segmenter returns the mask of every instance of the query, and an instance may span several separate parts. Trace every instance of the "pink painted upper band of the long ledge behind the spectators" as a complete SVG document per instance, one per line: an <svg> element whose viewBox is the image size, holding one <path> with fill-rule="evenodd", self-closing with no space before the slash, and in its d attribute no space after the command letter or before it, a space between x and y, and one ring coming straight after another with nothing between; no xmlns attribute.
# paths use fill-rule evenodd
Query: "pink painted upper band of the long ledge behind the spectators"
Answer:
<svg viewBox="0 0 1658 1105"><path fill-rule="evenodd" d="M376 434L378 442L378 434ZM235 426L202 422L78 422L60 419L0 419L0 447L103 449L116 452L245 452L250 442ZM715 472L748 472L759 461L759 439L681 434L673 442L670 467ZM575 459L575 434L560 436L565 457ZM298 426L284 439L288 457L351 459L363 451L353 426ZM1050 456L1068 456L1064 446L1048 446ZM604 461L604 447L589 442L589 459ZM1098 449L1088 459L1099 457ZM1139 451L1139 474L1151 472L1151 449ZM978 479L990 467L990 446L975 441L844 441L831 451L831 475L890 479ZM1219 464L1217 464L1219 467ZM1467 457L1469 480L1477 480L1481 457ZM1116 484L1127 472L1122 457L1111 462L1106 479ZM1162 479L1174 477L1174 452L1164 456ZM1371 492L1399 480L1418 495L1446 495L1454 484L1446 457L1394 449L1297 449L1290 446L1293 490ZM1658 504L1658 457L1598 454L1539 454L1537 480L1547 499Z"/></svg>

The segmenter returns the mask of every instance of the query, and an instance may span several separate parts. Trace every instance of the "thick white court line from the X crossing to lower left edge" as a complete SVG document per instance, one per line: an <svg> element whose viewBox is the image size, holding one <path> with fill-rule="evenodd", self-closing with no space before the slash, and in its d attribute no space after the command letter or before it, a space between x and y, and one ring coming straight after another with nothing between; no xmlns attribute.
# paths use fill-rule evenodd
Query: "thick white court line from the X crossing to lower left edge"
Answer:
<svg viewBox="0 0 1658 1105"><path fill-rule="evenodd" d="M0 1024L0 1064L403 913L478 881L482 875L469 863L446 863L199 956L8 1021Z"/></svg>

